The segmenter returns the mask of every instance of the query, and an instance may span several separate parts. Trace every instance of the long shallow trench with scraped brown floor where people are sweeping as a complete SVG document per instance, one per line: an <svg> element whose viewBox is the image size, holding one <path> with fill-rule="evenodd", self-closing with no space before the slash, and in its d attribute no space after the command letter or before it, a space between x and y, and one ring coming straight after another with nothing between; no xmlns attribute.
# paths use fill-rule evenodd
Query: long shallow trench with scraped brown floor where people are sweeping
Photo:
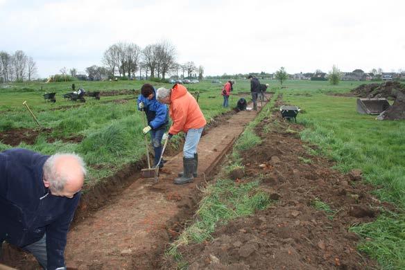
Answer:
<svg viewBox="0 0 405 270"><path fill-rule="evenodd" d="M260 109L260 105L258 107ZM119 195L114 195L114 199L105 192L97 195L96 200L106 201L97 206L98 210L89 211L91 206L80 204L76 224L68 234L67 266L76 269L161 267L166 244L178 235L182 222L193 215L198 202L198 186L214 172L244 126L257 116L256 111L231 114L221 125L214 121L201 138L198 145L199 177L193 183L173 184L176 174L182 171L180 152L168 158L158 183L153 179L138 179L139 174L133 174L128 177L131 184ZM117 184L117 188L121 188ZM94 200L89 198L88 201ZM24 253L18 262L10 255L6 256L9 259L6 263L14 267L39 269L32 255Z"/></svg>

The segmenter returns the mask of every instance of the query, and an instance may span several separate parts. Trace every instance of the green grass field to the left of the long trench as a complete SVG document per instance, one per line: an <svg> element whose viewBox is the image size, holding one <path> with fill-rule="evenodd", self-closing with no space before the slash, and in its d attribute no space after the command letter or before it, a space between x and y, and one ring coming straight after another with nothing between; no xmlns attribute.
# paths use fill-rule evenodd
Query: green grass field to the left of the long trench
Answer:
<svg viewBox="0 0 405 270"><path fill-rule="evenodd" d="M138 90L144 81L118 82L74 82L76 89L86 91ZM171 84L150 82L157 87L171 87ZM222 107L221 89L223 84L201 82L186 84L194 93L200 92L198 103L207 122L218 114L229 111ZM236 91L249 91L246 81ZM44 93L56 92L56 102L46 102ZM63 93L71 92L71 82L53 83L15 83L0 85L0 132L10 129L37 129L37 124L23 106L24 100L37 117L42 127L51 129L51 133L42 133L35 144L21 143L24 147L44 154L55 152L76 152L81 154L89 165L89 177L86 186L91 187L101 179L109 177L123 166L139 161L144 157L144 140L141 129L144 127L142 114L137 110L137 94L106 96L101 100L86 97L87 102L64 100ZM112 100L128 99L126 103ZM235 105L236 97L230 99ZM71 143L67 139L83 136L80 143ZM49 138L53 143L48 143ZM174 140L175 142L176 140ZM10 148L0 143L0 150Z"/></svg>

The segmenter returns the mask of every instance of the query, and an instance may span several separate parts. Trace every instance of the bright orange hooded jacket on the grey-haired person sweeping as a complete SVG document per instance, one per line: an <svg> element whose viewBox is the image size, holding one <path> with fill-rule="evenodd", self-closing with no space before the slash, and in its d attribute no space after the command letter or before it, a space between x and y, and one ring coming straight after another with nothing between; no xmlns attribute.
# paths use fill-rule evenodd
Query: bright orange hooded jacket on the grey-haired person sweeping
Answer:
<svg viewBox="0 0 405 270"><path fill-rule="evenodd" d="M175 84L171 89L169 115L173 125L170 134L188 132L189 129L199 129L207 125L196 99L182 84Z"/></svg>

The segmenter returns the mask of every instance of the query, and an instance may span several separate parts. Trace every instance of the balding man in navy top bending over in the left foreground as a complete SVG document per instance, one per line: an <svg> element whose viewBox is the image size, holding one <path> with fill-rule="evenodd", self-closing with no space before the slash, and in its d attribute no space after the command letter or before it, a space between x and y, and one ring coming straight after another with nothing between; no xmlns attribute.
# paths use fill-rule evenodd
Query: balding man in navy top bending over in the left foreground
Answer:
<svg viewBox="0 0 405 270"><path fill-rule="evenodd" d="M76 154L0 152L0 248L33 253L44 269L66 269L64 248L85 179Z"/></svg>

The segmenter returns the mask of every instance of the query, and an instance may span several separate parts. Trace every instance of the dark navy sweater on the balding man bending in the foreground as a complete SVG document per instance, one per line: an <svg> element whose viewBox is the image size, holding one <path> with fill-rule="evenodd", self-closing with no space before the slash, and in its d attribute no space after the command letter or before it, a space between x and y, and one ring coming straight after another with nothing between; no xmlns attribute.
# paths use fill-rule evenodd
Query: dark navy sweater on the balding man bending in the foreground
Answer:
<svg viewBox="0 0 405 270"><path fill-rule="evenodd" d="M80 199L58 197L44 186L49 156L29 150L0 152L0 241L26 246L46 233L47 269L64 267L67 231Z"/></svg>

